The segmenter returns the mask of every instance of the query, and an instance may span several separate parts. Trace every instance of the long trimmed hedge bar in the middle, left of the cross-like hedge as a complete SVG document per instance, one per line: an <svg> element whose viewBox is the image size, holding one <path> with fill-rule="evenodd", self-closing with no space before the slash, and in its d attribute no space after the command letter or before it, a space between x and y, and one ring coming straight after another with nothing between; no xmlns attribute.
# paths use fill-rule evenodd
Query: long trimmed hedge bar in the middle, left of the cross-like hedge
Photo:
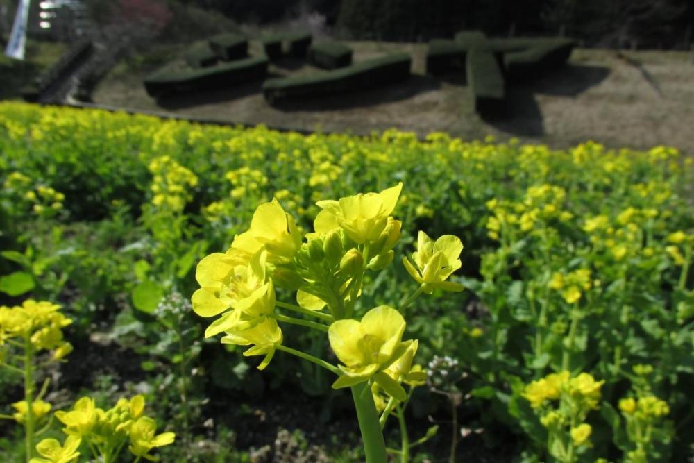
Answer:
<svg viewBox="0 0 694 463"><path fill-rule="evenodd" d="M269 79L262 89L270 103L296 96L354 92L406 80L411 63L407 53L393 53L312 76Z"/></svg>

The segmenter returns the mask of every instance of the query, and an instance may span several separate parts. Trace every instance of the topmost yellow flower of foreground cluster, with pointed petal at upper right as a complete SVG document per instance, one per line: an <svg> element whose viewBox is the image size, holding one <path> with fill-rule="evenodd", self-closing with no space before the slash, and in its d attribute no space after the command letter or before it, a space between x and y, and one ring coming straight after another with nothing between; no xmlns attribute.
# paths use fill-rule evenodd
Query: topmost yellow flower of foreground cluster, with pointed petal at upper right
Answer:
<svg viewBox="0 0 694 463"><path fill-rule="evenodd" d="M314 229L323 234L339 227L357 244L373 242L384 230L401 190L403 183L398 183L380 193L318 201L316 205L323 210L316 216Z"/></svg>

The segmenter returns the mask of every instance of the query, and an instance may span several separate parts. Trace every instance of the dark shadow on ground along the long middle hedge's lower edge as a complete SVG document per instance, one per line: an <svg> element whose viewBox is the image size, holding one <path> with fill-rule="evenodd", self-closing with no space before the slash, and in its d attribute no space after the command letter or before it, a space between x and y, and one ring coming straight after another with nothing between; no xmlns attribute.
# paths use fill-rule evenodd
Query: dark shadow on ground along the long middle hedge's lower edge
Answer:
<svg viewBox="0 0 694 463"><path fill-rule="evenodd" d="M441 83L432 76L409 76L407 81L374 87L346 94L312 96L278 101L273 107L283 112L331 111L364 108L384 103L403 101L417 94L438 90Z"/></svg>

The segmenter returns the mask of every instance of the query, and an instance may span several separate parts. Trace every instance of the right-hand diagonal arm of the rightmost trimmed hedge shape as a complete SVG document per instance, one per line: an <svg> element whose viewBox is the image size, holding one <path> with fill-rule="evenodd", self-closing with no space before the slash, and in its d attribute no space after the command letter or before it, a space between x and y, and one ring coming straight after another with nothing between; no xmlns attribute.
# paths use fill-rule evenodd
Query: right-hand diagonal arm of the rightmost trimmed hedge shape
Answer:
<svg viewBox="0 0 694 463"><path fill-rule="evenodd" d="M505 53L507 78L527 81L543 76L565 65L575 46L576 43L569 39L538 40L527 49Z"/></svg>

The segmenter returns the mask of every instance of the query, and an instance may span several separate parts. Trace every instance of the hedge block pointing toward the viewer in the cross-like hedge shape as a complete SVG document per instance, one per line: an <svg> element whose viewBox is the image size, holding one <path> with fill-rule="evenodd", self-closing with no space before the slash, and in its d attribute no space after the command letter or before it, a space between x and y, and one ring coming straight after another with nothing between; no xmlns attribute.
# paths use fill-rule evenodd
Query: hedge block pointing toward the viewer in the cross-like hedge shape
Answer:
<svg viewBox="0 0 694 463"><path fill-rule="evenodd" d="M484 112L503 101L504 75L493 51L473 48L468 53L466 75L468 87L473 95L475 111Z"/></svg>

